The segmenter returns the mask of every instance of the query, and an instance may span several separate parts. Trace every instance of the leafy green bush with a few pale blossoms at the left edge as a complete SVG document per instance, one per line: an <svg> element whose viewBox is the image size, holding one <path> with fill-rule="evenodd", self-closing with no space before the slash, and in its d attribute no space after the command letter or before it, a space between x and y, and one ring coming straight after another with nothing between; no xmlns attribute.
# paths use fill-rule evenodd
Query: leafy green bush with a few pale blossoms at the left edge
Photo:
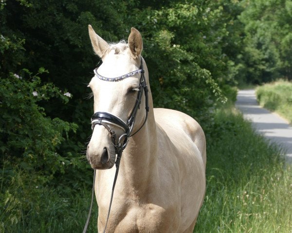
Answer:
<svg viewBox="0 0 292 233"><path fill-rule="evenodd" d="M42 170L44 174L54 175L63 172L62 163L66 161L56 153L56 148L66 138L63 132L76 131L76 124L59 118L45 116L44 108L38 102L60 99L68 102L64 95L52 83L41 84L38 74L47 72L44 68L32 76L23 69L29 78L10 73L10 77L0 80L0 150L24 169ZM66 93L66 95L69 95ZM56 100L55 100L56 101Z"/></svg>

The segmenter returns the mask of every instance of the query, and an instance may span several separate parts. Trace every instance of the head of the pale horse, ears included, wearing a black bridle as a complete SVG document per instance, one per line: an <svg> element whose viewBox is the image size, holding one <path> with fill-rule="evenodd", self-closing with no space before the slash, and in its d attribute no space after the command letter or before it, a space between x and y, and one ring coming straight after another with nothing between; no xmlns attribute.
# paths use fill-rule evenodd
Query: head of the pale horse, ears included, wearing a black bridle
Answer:
<svg viewBox="0 0 292 233"><path fill-rule="evenodd" d="M102 65L94 70L95 75L89 83L94 97L94 115L87 159L94 169L109 169L115 163L117 146L127 145L132 131L137 131L146 119L145 111L138 111L140 102L142 106L146 104L146 98L141 94L143 82L145 88L141 58L143 43L135 28L131 29L128 44L123 41L108 44L91 25L89 35ZM139 97L140 101L137 101ZM133 116L135 108L137 111ZM131 118L133 125L129 122Z"/></svg>

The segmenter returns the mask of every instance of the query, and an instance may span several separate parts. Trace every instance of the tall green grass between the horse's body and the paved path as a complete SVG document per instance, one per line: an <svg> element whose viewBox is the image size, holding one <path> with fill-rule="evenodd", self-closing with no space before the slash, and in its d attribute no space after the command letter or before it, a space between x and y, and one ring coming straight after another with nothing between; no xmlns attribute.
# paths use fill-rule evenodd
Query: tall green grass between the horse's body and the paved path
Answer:
<svg viewBox="0 0 292 233"><path fill-rule="evenodd" d="M219 110L207 141L207 190L196 233L291 233L292 170L231 109Z"/></svg>

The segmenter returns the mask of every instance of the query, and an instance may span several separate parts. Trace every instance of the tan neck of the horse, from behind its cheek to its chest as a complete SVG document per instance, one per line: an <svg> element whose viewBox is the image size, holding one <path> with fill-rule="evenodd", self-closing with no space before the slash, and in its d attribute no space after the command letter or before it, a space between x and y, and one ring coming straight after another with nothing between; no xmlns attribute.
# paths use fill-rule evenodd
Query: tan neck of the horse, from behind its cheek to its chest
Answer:
<svg viewBox="0 0 292 233"><path fill-rule="evenodd" d="M143 111L143 107L139 111ZM142 193L157 175L157 134L152 97L149 92L149 113L141 130L129 138L120 164L120 175L124 185ZM130 190L130 189L129 189Z"/></svg>

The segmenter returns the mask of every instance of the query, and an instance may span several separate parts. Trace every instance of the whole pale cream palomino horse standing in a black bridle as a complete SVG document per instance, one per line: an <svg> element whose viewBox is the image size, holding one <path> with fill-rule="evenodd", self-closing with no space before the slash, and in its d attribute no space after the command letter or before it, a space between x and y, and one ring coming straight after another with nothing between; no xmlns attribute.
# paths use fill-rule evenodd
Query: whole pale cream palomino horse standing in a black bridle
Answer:
<svg viewBox="0 0 292 233"><path fill-rule="evenodd" d="M200 125L181 112L153 109L138 30L131 29L128 44L108 44L91 25L89 35L93 50L103 61L89 83L95 120L87 148L91 167L98 169L94 184L98 232L107 222L115 176L111 168L116 158L113 138L119 138L127 147L120 161L107 232L192 233L205 193L206 143ZM141 88L146 85L148 101ZM130 129L124 127L129 118L134 120ZM131 131L127 139L126 131Z"/></svg>

